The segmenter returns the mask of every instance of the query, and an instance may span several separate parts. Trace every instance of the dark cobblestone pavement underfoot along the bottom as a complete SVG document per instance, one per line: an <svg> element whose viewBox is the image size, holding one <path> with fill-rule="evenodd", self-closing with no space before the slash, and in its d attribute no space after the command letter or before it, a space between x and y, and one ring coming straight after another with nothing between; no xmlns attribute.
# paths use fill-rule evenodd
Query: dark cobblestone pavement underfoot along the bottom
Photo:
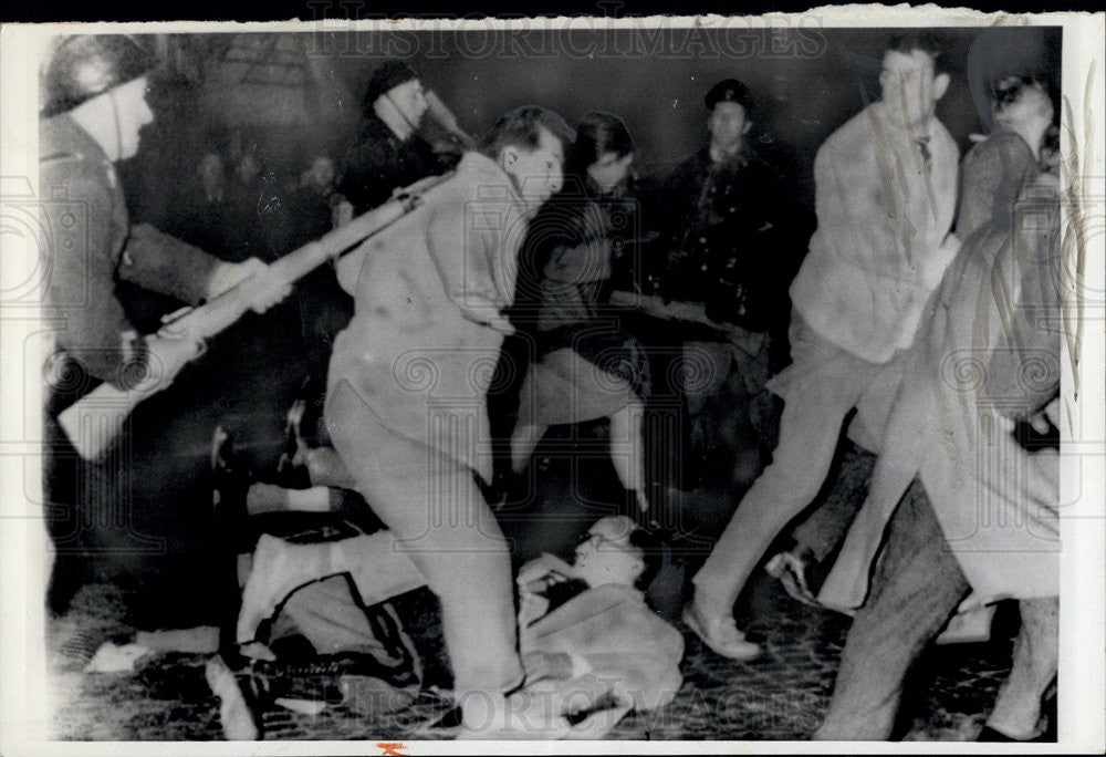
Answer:
<svg viewBox="0 0 1106 757"><path fill-rule="evenodd" d="M854 468L855 471L860 468ZM849 475L846 462L843 478ZM838 486L856 496L855 486ZM563 487L557 490L563 491ZM563 502L562 502L563 505ZM561 505L557 505L561 507ZM709 504L708 504L709 509ZM540 508L539 508L539 520ZM721 519L724 522L724 518ZM535 528L519 530L533 536ZM510 528L504 528L510 531ZM531 543L534 551L545 548ZM345 705L317 715L274 708L264 715L270 739L410 739L420 724L445 712L429 688L449 685L437 600L427 590L395 601L426 665L425 689L393 715L364 716ZM687 629L684 685L667 707L632 713L613 739L805 739L821 723L849 620L791 600L760 573L738 605L739 624L761 641L761 659L738 663L706 650ZM59 739L179 740L223 738L219 702L205 681L207 655L159 654L139 660L133 673L83 673L104 641L133 637L127 597L93 584L70 612L50 624L51 686ZM933 647L909 686L898 734L911 740L970 740L982 727L1010 666L1010 623L997 623L987 644Z"/></svg>

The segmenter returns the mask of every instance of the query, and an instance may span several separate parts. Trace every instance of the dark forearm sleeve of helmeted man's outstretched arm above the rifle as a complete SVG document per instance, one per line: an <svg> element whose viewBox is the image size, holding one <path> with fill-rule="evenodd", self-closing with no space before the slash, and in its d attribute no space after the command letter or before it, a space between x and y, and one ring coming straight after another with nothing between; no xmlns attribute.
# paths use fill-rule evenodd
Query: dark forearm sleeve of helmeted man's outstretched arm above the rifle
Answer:
<svg viewBox="0 0 1106 757"><path fill-rule="evenodd" d="M218 258L198 247L140 224L131 229L118 276L143 289L196 304L207 298L208 283L219 263Z"/></svg>

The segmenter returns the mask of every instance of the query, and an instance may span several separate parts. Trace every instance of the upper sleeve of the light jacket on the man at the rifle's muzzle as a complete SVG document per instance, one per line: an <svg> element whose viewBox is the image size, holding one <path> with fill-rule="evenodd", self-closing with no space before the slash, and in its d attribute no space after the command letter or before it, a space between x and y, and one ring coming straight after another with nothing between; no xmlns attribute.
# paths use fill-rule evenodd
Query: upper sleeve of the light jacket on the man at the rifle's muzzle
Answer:
<svg viewBox="0 0 1106 757"><path fill-rule="evenodd" d="M500 310L508 304L495 278L513 266L497 260L507 252L495 243L497 236L466 228L465 212L463 203L437 208L427 222L427 250L449 301L466 319L495 326L505 322Z"/></svg>

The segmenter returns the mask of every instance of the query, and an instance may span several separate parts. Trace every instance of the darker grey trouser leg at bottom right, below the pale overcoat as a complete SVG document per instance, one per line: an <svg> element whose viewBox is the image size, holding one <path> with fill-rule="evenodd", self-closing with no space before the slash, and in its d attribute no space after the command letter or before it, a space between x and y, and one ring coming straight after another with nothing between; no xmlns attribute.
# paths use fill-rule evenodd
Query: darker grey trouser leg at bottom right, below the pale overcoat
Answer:
<svg viewBox="0 0 1106 757"><path fill-rule="evenodd" d="M968 594L967 579L915 484L888 526L868 602L849 629L822 740L890 736L910 665Z"/></svg>

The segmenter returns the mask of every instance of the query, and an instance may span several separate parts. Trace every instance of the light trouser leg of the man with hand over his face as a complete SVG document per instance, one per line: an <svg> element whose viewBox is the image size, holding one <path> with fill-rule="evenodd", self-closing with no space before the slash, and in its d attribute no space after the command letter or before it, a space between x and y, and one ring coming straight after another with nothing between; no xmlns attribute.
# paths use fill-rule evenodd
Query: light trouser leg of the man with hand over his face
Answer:
<svg viewBox="0 0 1106 757"><path fill-rule="evenodd" d="M818 494L833 464L842 422L864 387L859 376L804 381L789 392L773 462L741 500L695 577L702 616L727 615L772 540Z"/></svg>

